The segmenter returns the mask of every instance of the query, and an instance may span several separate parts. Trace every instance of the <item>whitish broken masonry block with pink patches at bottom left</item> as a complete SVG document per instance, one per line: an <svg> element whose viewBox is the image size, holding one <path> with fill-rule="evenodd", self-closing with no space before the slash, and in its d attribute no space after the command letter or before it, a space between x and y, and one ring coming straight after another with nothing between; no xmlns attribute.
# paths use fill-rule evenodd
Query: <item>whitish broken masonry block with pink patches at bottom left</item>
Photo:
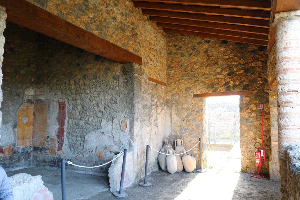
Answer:
<svg viewBox="0 0 300 200"><path fill-rule="evenodd" d="M53 200L53 194L44 186L41 176L20 173L8 177L14 200Z"/></svg>

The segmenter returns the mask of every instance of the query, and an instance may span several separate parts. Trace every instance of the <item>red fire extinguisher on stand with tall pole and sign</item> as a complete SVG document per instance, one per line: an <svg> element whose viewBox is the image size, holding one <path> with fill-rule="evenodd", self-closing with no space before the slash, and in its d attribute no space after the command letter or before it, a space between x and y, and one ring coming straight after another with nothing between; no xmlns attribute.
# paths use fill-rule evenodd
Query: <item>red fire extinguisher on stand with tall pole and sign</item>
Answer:
<svg viewBox="0 0 300 200"><path fill-rule="evenodd" d="M251 174L250 176L254 178L264 178L265 176L259 175L259 167L262 166L262 163L265 162L265 149L262 147L263 145L263 110L264 110L264 103L262 105L259 105L259 109L261 109L262 106L262 143L260 144L259 142L255 142L254 147L256 148L256 143L260 144L260 146L257 148L255 151L255 165L257 166L257 174ZM263 153L263 161L262 161L262 153Z"/></svg>

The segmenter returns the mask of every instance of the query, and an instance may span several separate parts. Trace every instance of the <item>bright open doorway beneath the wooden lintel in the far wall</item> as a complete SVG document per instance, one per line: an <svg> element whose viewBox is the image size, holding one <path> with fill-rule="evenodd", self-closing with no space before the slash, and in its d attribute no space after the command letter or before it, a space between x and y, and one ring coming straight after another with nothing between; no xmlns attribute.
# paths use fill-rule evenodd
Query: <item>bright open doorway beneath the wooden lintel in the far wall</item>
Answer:
<svg viewBox="0 0 300 200"><path fill-rule="evenodd" d="M207 167L217 173L241 170L239 99L240 96L206 98Z"/></svg>

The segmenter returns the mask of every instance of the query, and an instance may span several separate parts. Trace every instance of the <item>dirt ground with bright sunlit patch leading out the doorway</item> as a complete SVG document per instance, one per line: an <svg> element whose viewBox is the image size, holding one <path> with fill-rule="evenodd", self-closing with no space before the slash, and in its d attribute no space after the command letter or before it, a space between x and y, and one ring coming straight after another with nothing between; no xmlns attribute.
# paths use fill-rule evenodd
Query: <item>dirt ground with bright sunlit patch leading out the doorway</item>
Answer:
<svg viewBox="0 0 300 200"><path fill-rule="evenodd" d="M240 173L239 144L229 148L208 148L208 169L205 173L175 173L158 171L148 176L150 188L137 184L127 188L127 199L211 199L211 200L276 200L280 199L280 182L250 177ZM210 168L209 168L210 166ZM109 191L89 200L116 199Z"/></svg>

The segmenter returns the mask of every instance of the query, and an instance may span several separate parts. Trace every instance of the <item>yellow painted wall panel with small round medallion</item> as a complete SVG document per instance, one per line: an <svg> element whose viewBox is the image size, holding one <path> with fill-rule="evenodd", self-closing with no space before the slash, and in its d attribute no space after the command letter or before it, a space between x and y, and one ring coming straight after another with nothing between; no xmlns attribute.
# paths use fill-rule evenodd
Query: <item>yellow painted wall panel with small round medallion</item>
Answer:
<svg viewBox="0 0 300 200"><path fill-rule="evenodd" d="M32 104L23 104L17 115L17 146L32 146ZM23 120L23 122L22 122Z"/></svg>

